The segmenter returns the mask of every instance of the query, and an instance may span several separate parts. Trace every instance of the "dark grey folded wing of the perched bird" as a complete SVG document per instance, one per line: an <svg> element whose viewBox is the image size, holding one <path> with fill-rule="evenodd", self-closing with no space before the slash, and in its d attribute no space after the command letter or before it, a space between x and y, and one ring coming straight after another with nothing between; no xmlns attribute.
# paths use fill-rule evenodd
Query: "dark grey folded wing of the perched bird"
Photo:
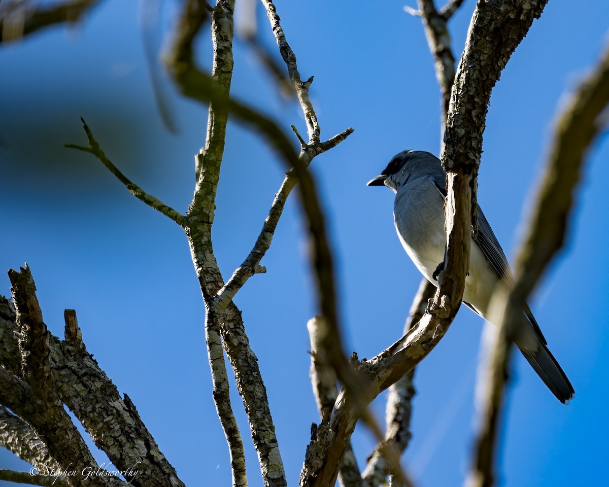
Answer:
<svg viewBox="0 0 609 487"><path fill-rule="evenodd" d="M438 191L442 194L442 197L446 198L445 179L438 176L434 177L433 181L435 187L437 187ZM507 284L508 287L512 287L514 285L514 278L512 277L512 271L510 271L510 265L480 206L478 206L478 232L477 235L474 236L474 242L480 247L482 253L484 253L498 276L505 281L505 284ZM537 324L537 320L533 317L530 307L526 303L523 304L523 312L533 326L533 329L535 329L535 332L537 332L541 342L543 342L544 345L547 345L546 338L543 336L543 333L541 333L539 324Z"/></svg>

